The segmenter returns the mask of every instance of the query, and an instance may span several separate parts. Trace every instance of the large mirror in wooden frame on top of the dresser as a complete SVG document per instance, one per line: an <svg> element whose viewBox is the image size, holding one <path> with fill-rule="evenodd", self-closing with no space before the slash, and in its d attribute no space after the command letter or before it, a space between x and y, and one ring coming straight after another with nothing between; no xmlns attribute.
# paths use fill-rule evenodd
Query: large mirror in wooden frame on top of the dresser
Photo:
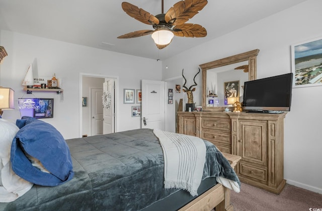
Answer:
<svg viewBox="0 0 322 211"><path fill-rule="evenodd" d="M257 79L259 51L255 49L199 65L204 111L223 111L231 107L233 101L243 101L244 82Z"/></svg>

